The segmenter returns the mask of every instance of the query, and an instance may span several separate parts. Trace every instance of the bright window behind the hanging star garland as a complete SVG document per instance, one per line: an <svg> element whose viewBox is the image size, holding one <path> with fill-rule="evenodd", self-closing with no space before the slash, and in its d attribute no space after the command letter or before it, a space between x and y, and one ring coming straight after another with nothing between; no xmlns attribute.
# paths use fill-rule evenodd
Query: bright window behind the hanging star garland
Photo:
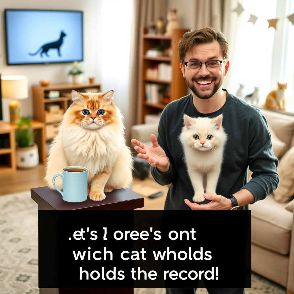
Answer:
<svg viewBox="0 0 294 294"><path fill-rule="evenodd" d="M244 0L242 6L245 11L238 16L234 50L229 53L227 87L235 94L241 83L245 85L244 93L250 94L255 86L260 86L262 105L268 93L277 88L278 81L288 82L286 107L293 112L294 27L287 16L294 13L294 1ZM258 17L255 24L248 22L250 14ZM279 19L276 30L268 28L268 19Z"/></svg>

